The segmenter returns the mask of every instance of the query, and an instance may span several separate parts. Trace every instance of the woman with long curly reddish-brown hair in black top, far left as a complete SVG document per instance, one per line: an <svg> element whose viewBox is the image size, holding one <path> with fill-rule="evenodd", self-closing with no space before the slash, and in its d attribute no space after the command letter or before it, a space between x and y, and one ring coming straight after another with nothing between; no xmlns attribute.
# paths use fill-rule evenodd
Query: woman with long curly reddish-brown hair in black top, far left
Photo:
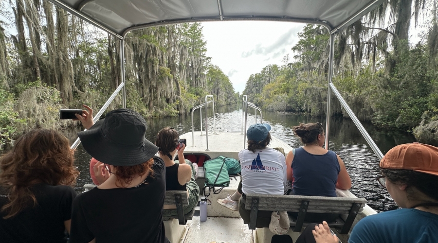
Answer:
<svg viewBox="0 0 438 243"><path fill-rule="evenodd" d="M69 143L34 129L0 159L1 242L67 242L79 174Z"/></svg>

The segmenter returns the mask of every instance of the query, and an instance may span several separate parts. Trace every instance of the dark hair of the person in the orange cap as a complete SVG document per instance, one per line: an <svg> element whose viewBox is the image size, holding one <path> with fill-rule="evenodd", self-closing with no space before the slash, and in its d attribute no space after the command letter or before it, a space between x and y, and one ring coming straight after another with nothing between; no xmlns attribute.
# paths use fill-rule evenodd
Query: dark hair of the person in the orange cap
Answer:
<svg viewBox="0 0 438 243"><path fill-rule="evenodd" d="M381 169L381 172L392 183L406 185L406 192L411 198L415 197L413 188L416 188L426 196L438 201L438 176L413 170Z"/></svg>

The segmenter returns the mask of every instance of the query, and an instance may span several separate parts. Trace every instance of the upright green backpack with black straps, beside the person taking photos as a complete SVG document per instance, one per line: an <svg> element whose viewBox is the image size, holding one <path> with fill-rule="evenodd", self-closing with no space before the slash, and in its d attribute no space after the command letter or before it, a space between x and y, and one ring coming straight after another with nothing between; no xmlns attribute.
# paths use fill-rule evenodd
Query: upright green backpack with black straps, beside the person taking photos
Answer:
<svg viewBox="0 0 438 243"><path fill-rule="evenodd" d="M218 194L224 187L230 185L230 177L225 164L225 157L219 156L204 162L205 188L204 196L210 195L211 189ZM215 187L220 187L218 190ZM207 192L208 189L208 192Z"/></svg>

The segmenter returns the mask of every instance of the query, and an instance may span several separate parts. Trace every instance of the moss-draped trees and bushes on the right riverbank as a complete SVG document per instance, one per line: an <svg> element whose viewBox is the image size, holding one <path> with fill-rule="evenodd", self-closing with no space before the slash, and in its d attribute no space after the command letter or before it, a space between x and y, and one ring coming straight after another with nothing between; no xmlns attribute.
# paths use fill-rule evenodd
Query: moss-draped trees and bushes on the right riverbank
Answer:
<svg viewBox="0 0 438 243"><path fill-rule="evenodd" d="M396 0L335 35L333 84L361 121L438 146L438 1ZM421 21L419 40L412 25ZM293 58L249 77L243 94L271 111L325 116L329 33L307 25ZM332 95L332 115L348 117Z"/></svg>

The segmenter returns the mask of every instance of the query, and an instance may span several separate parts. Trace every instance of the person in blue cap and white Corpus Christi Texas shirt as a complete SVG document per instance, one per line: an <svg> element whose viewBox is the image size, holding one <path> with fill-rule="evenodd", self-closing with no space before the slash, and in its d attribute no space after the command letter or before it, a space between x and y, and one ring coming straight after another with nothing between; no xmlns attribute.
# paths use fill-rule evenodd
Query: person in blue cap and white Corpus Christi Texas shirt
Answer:
<svg viewBox="0 0 438 243"><path fill-rule="evenodd" d="M271 126L268 123L250 126L246 131L248 148L238 154L242 180L234 195L242 194L237 208L244 222L249 222L250 219L250 210L245 209L246 193L282 195L284 191L285 157L281 152L267 147L271 142L270 130ZM269 227L271 214L272 211L258 211L256 227Z"/></svg>

